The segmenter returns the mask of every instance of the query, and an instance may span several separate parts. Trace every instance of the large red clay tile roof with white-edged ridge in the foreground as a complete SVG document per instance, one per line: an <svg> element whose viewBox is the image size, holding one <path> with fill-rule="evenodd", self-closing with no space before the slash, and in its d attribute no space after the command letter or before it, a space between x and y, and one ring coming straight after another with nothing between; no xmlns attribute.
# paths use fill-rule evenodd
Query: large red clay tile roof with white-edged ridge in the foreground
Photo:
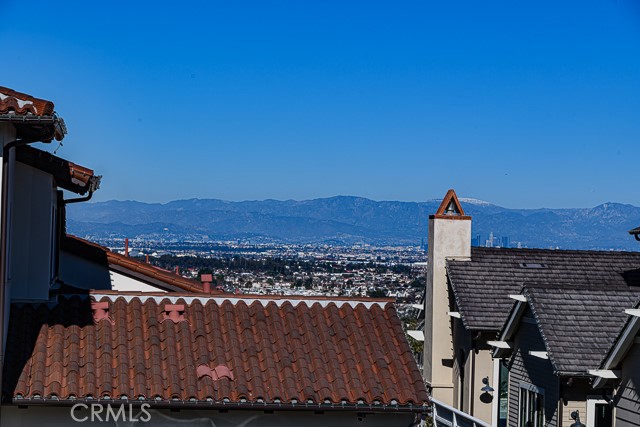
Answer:
<svg viewBox="0 0 640 427"><path fill-rule="evenodd" d="M106 313L95 301L108 302ZM166 319L180 305L186 320ZM126 396L160 406L422 412L428 401L386 300L94 293L14 304L3 378L5 397L21 404Z"/></svg>

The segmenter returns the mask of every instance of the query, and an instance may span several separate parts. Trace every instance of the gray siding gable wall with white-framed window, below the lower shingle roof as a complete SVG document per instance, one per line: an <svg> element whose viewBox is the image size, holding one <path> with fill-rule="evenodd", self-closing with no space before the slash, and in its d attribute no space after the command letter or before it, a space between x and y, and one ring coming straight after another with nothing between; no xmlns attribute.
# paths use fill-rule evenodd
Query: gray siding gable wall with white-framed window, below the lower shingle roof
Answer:
<svg viewBox="0 0 640 427"><path fill-rule="evenodd" d="M533 320L527 310L523 316L514 339L514 353L509 361L509 417L508 426L518 427L518 404L520 399L520 382L533 384L544 389L545 425L558 425L558 377L553 374L553 366L549 360L529 355L529 351L545 351L544 341L537 325L529 323Z"/></svg>

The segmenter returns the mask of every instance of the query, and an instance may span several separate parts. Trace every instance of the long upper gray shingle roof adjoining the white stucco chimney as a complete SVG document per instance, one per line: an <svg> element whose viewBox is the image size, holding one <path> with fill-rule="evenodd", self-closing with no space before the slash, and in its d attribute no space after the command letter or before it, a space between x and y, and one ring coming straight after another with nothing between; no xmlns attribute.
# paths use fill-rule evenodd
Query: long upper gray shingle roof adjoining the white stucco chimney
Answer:
<svg viewBox="0 0 640 427"><path fill-rule="evenodd" d="M474 247L447 272L465 327L499 331L526 283L640 286L640 252Z"/></svg>

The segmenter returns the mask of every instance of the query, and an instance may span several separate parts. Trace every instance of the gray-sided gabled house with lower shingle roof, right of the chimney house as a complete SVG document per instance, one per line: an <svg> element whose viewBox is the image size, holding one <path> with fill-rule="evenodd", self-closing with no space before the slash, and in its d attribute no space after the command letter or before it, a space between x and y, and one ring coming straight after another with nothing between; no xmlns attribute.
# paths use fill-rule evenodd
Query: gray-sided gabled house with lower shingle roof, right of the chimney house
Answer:
<svg viewBox="0 0 640 427"><path fill-rule="evenodd" d="M593 382L640 288L552 282L526 284L520 296L495 352L509 369L509 425L569 427L577 410L587 427L612 427L612 390Z"/></svg>

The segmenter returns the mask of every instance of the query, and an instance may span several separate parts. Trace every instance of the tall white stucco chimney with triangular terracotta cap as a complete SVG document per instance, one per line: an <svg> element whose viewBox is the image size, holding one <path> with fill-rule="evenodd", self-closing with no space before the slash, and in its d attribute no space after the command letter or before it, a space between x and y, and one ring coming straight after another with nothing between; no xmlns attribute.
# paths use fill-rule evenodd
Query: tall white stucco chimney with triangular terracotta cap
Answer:
<svg viewBox="0 0 640 427"><path fill-rule="evenodd" d="M470 259L471 217L455 191L449 190L435 215L429 216L425 295L424 378L434 398L453 404L453 343L446 260Z"/></svg>

